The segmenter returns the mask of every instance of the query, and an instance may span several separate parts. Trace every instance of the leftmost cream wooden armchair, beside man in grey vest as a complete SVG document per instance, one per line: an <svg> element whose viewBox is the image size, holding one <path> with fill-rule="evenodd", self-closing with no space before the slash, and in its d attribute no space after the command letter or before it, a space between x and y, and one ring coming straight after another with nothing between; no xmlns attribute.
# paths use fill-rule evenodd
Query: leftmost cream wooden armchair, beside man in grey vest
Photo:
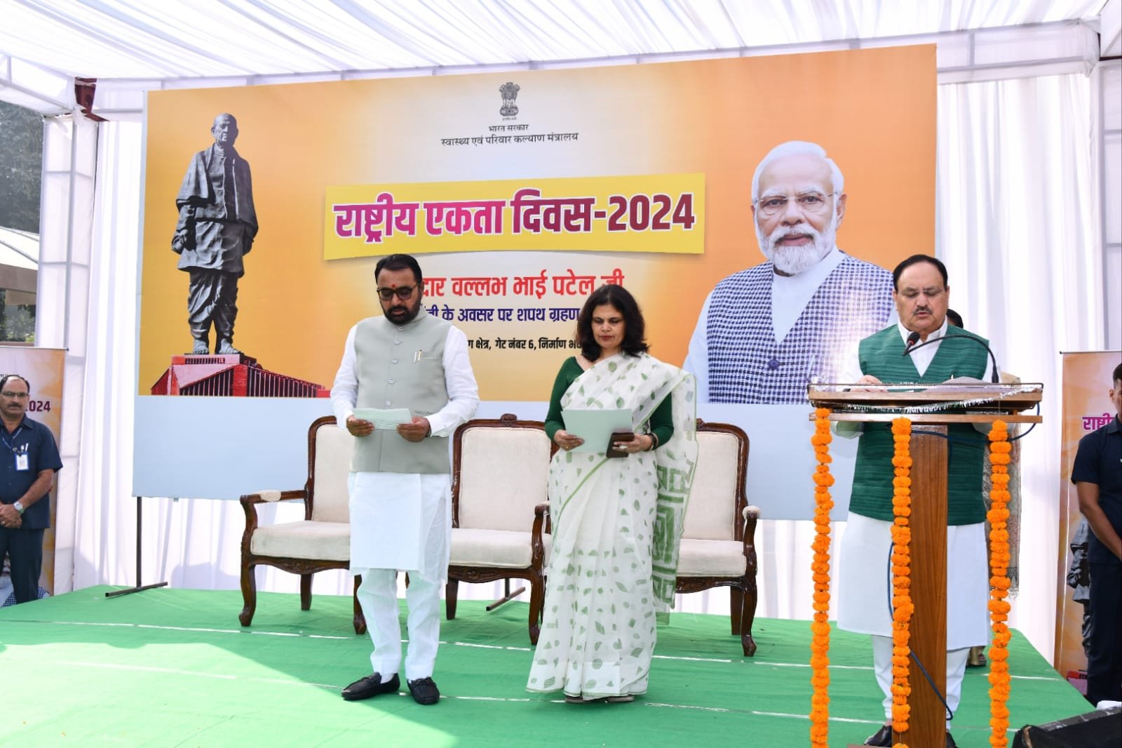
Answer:
<svg viewBox="0 0 1122 748"><path fill-rule="evenodd" d="M261 491L241 496L246 531L241 536L241 596L238 615L249 626L257 608L258 564L300 574L300 609L312 606L312 575L329 568L350 567L350 508L347 476L355 438L335 426L334 416L324 416L307 429L307 482L300 491ZM302 500L304 519L260 527L258 504ZM355 590L360 584L355 578ZM366 632L366 618L355 596L355 632Z"/></svg>

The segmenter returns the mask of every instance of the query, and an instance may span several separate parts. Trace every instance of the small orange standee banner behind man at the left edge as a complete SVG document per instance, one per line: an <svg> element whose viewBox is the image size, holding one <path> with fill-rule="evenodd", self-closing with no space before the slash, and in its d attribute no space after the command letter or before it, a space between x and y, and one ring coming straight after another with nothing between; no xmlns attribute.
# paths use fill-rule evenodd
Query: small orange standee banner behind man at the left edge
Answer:
<svg viewBox="0 0 1122 748"><path fill-rule="evenodd" d="M63 371L66 352L62 348L0 346L0 374L19 374L30 385L27 417L50 429L55 443L62 444ZM66 466L63 465L65 469ZM50 490L50 528L43 535L43 574L39 586L55 591L55 511L58 480ZM7 596L7 595L4 595ZM0 600L0 603L3 601Z"/></svg>

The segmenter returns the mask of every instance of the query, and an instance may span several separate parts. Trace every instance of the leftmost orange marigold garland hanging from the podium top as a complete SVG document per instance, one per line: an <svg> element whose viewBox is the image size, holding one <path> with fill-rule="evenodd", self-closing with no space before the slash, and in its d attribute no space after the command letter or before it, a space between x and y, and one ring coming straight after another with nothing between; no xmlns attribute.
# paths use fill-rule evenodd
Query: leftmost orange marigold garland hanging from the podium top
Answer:
<svg viewBox="0 0 1122 748"><path fill-rule="evenodd" d="M810 444L815 446L815 559L810 565L815 581L815 620L810 624L813 633L810 641L810 683L813 694L810 697L810 745L813 748L827 748L830 719L830 510L834 501L830 499L830 486L834 476L830 475L830 411L826 408L815 410L815 436Z"/></svg>

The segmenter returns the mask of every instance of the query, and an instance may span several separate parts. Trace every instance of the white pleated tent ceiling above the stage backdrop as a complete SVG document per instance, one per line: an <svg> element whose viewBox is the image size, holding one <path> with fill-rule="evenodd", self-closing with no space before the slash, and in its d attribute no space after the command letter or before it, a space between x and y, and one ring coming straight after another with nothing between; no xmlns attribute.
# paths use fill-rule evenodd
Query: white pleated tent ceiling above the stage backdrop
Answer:
<svg viewBox="0 0 1122 748"><path fill-rule="evenodd" d="M0 11L0 97L44 112L73 108L74 77L122 93L773 54L858 39L936 42L940 70L1008 75L1014 65L1093 64L1120 48L1118 2L1107 0L2 0Z"/></svg>

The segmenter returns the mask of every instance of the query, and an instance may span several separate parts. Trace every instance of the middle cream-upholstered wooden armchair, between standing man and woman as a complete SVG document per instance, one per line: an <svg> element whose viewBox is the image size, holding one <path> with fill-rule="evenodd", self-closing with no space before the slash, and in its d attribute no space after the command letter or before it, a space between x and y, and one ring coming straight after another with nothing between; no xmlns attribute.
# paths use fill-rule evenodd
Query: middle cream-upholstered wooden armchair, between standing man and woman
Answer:
<svg viewBox="0 0 1122 748"><path fill-rule="evenodd" d="M550 551L546 474L552 443L541 421L476 419L452 443L452 540L444 593L456 618L460 582L530 583L530 641L537 644ZM514 593L487 610L503 604Z"/></svg>

